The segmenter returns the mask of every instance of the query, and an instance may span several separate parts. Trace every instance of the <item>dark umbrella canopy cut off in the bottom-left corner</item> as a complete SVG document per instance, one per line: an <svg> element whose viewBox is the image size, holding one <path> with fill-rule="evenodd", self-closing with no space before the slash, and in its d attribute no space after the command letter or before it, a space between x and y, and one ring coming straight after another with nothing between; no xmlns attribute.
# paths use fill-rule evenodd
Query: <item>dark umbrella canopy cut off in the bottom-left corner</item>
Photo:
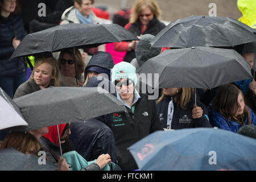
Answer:
<svg viewBox="0 0 256 182"><path fill-rule="evenodd" d="M59 167L48 163L39 164L39 157L25 155L14 148L0 150L0 171L53 171Z"/></svg>

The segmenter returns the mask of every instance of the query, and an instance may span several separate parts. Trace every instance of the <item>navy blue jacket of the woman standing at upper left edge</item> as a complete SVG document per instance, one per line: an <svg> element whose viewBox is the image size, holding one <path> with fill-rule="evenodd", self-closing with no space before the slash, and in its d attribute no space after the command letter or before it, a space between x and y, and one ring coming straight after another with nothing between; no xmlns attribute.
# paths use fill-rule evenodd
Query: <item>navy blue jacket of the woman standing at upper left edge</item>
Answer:
<svg viewBox="0 0 256 182"><path fill-rule="evenodd" d="M14 52L13 39L22 40L25 36L22 19L10 14L0 15L0 76L15 76L25 71L22 59L10 59Z"/></svg>

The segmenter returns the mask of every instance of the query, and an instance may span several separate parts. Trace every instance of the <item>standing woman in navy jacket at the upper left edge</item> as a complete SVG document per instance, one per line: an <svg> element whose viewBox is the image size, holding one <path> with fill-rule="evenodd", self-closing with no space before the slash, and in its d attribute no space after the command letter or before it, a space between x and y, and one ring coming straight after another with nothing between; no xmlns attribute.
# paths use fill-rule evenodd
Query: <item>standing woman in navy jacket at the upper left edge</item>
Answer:
<svg viewBox="0 0 256 182"><path fill-rule="evenodd" d="M10 59L25 36L22 19L16 13L16 0L0 0L0 87L11 98L18 86L26 81L22 59Z"/></svg>

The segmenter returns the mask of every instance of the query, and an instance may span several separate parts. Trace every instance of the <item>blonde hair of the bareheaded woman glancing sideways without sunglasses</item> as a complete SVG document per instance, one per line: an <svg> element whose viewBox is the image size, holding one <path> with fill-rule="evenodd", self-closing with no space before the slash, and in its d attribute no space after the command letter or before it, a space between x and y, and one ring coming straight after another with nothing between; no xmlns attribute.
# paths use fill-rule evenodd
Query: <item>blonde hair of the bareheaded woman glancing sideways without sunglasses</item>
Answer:
<svg viewBox="0 0 256 182"><path fill-rule="evenodd" d="M46 59L37 60L35 63L35 67L30 75L30 80L34 79L34 73L35 73L36 68L38 68L39 65L41 65L43 63L48 63L52 67L52 75L53 75L54 79L52 79L49 82L48 86L59 86L60 85L60 69L57 65L57 60L53 57L48 57Z"/></svg>

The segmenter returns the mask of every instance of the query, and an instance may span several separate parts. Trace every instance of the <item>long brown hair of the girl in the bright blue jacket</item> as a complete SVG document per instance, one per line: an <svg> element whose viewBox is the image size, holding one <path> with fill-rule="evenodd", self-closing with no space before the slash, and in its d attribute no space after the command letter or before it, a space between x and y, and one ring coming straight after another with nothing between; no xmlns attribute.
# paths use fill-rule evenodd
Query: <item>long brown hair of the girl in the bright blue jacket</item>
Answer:
<svg viewBox="0 0 256 182"><path fill-rule="evenodd" d="M223 85L220 89L218 89L216 96L213 98L212 106L213 109L222 114L228 121L230 118L233 118L234 121L242 125L245 122L245 119L248 118L247 124L250 125L250 112L246 106L241 115L234 117L238 110L237 98L240 93L243 97L242 91L233 84Z"/></svg>

